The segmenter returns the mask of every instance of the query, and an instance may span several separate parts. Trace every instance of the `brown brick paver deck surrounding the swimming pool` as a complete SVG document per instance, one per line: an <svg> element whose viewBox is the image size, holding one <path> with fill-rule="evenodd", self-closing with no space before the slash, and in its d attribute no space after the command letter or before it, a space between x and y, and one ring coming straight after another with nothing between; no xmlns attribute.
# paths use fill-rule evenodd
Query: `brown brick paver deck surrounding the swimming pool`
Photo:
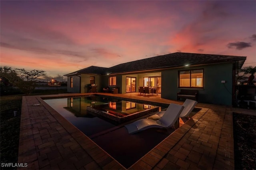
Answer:
<svg viewBox="0 0 256 170"><path fill-rule="evenodd" d="M183 103L159 97L108 95L168 104ZM26 169L125 169L41 97L22 98L19 163L28 163ZM201 111L129 169L234 169L234 109L200 103L196 107L202 107ZM235 111L255 112L244 109Z"/></svg>

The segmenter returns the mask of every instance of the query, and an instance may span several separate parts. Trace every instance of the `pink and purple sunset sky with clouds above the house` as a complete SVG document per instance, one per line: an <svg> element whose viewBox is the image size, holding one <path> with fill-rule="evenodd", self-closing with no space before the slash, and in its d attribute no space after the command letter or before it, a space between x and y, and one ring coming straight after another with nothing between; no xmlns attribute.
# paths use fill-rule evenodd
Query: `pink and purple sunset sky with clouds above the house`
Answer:
<svg viewBox="0 0 256 170"><path fill-rule="evenodd" d="M0 29L0 65L49 79L178 51L247 56L244 66L256 66L255 0L1 0Z"/></svg>

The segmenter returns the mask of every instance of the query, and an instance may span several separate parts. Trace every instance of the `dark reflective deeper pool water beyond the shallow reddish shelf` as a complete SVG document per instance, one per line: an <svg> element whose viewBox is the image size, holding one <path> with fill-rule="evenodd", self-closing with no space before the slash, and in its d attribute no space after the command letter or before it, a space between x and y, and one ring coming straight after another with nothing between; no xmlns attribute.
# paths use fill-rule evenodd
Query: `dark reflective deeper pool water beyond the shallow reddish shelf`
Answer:
<svg viewBox="0 0 256 170"><path fill-rule="evenodd" d="M103 96L46 99L44 102L88 137L112 129L124 122L113 121L106 116L102 116L102 114L92 114L92 112L87 110L88 107L95 108L102 113L108 111L112 116L118 118L125 118L129 115L141 113L141 111L150 111L151 109L156 109L155 112L159 110L157 106ZM114 115L114 113L116 113L116 115ZM142 116L142 114L140 116ZM136 118L136 116L134 118Z"/></svg>

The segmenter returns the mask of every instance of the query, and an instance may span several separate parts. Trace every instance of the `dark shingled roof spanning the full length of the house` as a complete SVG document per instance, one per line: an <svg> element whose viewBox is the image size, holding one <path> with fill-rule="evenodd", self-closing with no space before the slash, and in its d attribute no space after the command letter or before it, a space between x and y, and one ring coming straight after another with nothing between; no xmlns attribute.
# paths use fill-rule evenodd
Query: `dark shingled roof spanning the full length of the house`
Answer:
<svg viewBox="0 0 256 170"><path fill-rule="evenodd" d="M64 76L70 76L74 74L118 74L125 72L136 72L144 70L156 70L164 68L183 67L186 64L189 66L214 64L214 63L226 63L236 62L236 67L239 70L246 57L244 56L231 56L231 55L213 55L213 54L197 54L197 53L171 53L166 55L160 55L156 57L150 57L147 59L141 59L131 61L128 63L118 64L110 68L90 66L76 72L66 74Z"/></svg>

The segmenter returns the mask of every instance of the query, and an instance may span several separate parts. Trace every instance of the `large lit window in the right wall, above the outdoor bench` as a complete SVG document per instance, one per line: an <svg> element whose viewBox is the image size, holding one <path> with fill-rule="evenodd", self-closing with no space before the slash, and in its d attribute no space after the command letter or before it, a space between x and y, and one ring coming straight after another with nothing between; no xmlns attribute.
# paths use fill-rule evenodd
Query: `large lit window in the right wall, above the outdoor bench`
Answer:
<svg viewBox="0 0 256 170"><path fill-rule="evenodd" d="M181 88L203 88L203 80L203 69L179 71L179 87Z"/></svg>

